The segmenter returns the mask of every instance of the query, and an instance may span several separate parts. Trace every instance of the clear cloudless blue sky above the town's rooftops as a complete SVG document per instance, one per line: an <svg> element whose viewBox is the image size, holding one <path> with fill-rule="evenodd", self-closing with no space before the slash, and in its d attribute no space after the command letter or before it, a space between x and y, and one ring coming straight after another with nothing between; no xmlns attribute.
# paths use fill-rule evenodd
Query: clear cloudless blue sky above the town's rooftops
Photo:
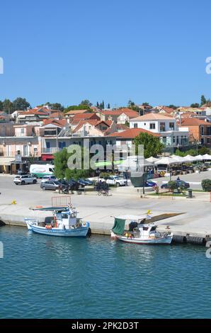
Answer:
<svg viewBox="0 0 211 333"><path fill-rule="evenodd" d="M210 0L1 1L0 100L186 106L211 98Z"/></svg>

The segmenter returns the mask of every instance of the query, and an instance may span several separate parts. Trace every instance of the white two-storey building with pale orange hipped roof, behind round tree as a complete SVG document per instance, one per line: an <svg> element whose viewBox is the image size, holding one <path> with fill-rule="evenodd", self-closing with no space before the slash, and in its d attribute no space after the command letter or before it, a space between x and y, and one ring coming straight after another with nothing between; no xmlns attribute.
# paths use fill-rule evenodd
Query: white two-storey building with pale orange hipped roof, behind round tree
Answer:
<svg viewBox="0 0 211 333"><path fill-rule="evenodd" d="M188 128L178 128L176 119L161 113L149 113L130 120L130 128L142 128L159 134L169 147L188 145Z"/></svg>

